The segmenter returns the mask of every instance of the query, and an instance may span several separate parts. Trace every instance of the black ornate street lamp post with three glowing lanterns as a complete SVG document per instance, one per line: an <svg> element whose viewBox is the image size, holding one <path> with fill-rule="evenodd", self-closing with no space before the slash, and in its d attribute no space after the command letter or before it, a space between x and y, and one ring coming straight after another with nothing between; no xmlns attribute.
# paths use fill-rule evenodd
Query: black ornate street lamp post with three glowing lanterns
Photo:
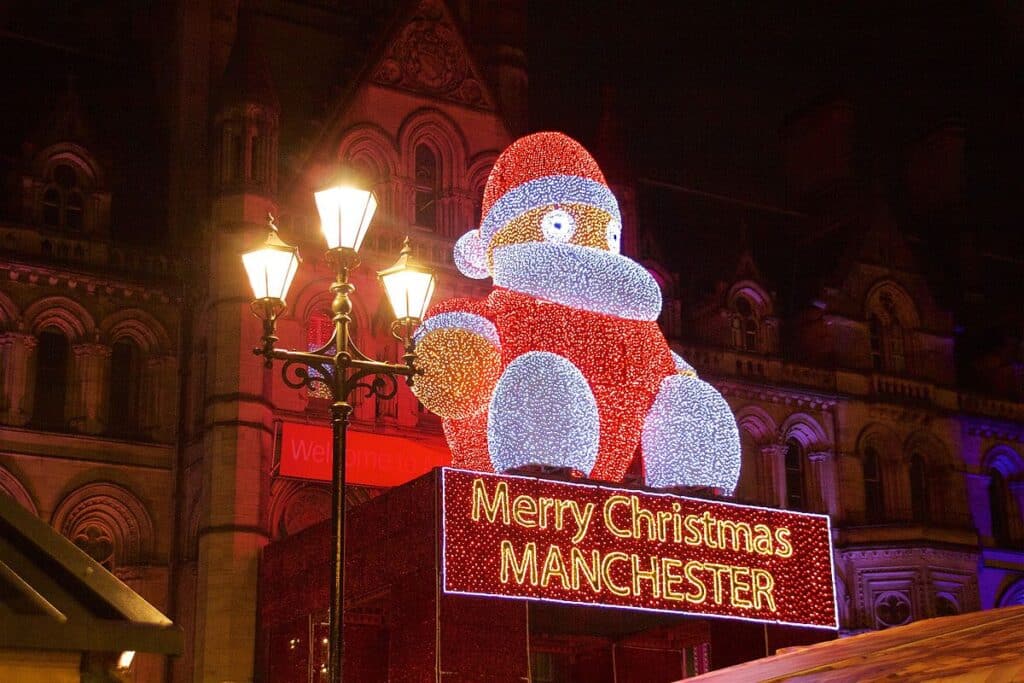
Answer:
<svg viewBox="0 0 1024 683"><path fill-rule="evenodd" d="M258 249L243 254L242 260L253 288L253 313L263 322L262 344L253 349L266 359L283 360L282 377L293 389L312 385L326 386L333 398L332 541L334 565L331 581L330 680L341 683L343 657L343 612L345 585L345 436L352 404L349 395L355 390L366 395L388 399L398 390L397 378L412 385L416 374L416 345L413 332L422 321L434 291L433 274L412 260L406 239L397 262L378 272L384 291L394 309L392 336L402 343L403 362L374 360L355 346L351 338L352 301L355 286L349 274L358 261L358 249L377 209L372 193L350 187L332 187L314 195L321 214L321 227L328 243L327 262L334 269L330 291L334 334L321 348L293 351L274 346L276 321L286 308L285 298L299 264L299 252L281 240L273 217L270 233Z"/></svg>

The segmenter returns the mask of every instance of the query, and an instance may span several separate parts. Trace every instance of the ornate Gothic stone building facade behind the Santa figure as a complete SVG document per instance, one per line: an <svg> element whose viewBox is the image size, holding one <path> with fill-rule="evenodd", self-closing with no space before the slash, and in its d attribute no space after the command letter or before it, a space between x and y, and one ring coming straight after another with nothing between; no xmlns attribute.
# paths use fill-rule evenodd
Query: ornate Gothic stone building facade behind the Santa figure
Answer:
<svg viewBox="0 0 1024 683"><path fill-rule="evenodd" d="M252 354L239 255L278 216L306 259L282 344L325 341L312 190L341 174L381 205L355 276L364 351L398 357L372 273L407 233L438 298L481 294L452 245L527 129L525 3L115 5L0 15L4 54L49 77L4 77L25 96L0 159L0 490L184 627L185 654L140 656L136 680L251 680L260 551L323 519L330 492L275 474L276 425L327 424L327 405ZM783 131L792 211L692 207L689 224L710 212L739 236L710 286L680 274L692 255L652 246L674 228L643 222L643 187L610 174L625 248L664 286L674 347L733 408L736 497L831 516L845 632L1024 604L1024 319L984 276L1024 263L965 246L958 292L937 297L908 236L936 216L969 232L964 131L915 143L894 211L852 169L854 118L828 102ZM593 150L624 167L602 157L621 140ZM780 230L807 236L814 268L763 260ZM996 319L1006 343L961 348ZM404 387L354 419L443 443Z"/></svg>

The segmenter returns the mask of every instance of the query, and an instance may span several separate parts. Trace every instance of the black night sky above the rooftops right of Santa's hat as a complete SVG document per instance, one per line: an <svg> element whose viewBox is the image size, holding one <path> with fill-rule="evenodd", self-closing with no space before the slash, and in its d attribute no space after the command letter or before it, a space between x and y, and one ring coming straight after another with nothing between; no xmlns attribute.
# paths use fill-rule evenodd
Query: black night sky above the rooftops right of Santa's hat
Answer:
<svg viewBox="0 0 1024 683"><path fill-rule="evenodd" d="M843 96L880 169L964 123L974 215L1020 224L1020 3L531 2L528 53L531 127L589 142L609 84L641 176L775 201L780 124Z"/></svg>

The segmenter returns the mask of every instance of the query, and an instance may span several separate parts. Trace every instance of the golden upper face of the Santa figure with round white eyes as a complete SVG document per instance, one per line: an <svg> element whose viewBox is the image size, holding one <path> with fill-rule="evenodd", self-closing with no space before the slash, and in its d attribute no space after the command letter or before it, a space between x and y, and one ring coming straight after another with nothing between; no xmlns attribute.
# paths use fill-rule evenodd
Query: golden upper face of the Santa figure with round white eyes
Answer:
<svg viewBox="0 0 1024 683"><path fill-rule="evenodd" d="M586 204L556 204L532 209L511 220L490 240L487 266L495 252L524 243L570 244L618 254L622 225L603 209Z"/></svg>

